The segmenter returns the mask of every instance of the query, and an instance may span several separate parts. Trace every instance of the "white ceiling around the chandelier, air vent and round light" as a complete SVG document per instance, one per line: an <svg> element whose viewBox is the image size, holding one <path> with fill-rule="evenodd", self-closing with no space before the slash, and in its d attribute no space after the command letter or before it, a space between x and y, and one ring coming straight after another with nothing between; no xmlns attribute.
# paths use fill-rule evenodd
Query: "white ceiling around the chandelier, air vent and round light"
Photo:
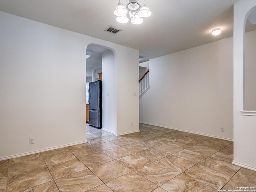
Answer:
<svg viewBox="0 0 256 192"><path fill-rule="evenodd" d="M0 10L138 49L144 62L233 36L233 4L238 1L146 0L152 15L140 25L116 21L119 0L0 0ZM122 31L104 31L109 26ZM219 36L211 35L215 28L222 29ZM246 28L256 30L250 23Z"/></svg>

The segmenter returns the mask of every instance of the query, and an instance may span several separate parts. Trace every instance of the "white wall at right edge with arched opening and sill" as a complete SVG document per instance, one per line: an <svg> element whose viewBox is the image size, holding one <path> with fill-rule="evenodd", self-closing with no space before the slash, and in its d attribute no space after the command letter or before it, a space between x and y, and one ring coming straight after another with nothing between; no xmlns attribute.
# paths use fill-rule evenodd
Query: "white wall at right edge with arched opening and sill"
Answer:
<svg viewBox="0 0 256 192"><path fill-rule="evenodd" d="M256 9L255 0L234 4L234 160L239 166L256 170L256 113L242 115L244 109L244 30L248 15ZM255 39L255 38L254 38ZM255 42L255 40L254 40ZM255 50L252 50L255 54ZM247 53L246 53L247 54ZM254 63L255 64L255 63Z"/></svg>

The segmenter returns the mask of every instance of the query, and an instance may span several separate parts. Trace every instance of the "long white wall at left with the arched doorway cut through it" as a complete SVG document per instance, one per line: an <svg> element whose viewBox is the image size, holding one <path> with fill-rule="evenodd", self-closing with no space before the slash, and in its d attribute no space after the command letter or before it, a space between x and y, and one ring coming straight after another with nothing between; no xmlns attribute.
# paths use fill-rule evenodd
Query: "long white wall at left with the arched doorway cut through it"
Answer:
<svg viewBox="0 0 256 192"><path fill-rule="evenodd" d="M115 134L138 131L139 99L132 96L138 90L138 50L4 12L0 26L0 160L86 142L86 48L91 43L114 52L113 105L121 114ZM28 144L29 137L34 144Z"/></svg>

